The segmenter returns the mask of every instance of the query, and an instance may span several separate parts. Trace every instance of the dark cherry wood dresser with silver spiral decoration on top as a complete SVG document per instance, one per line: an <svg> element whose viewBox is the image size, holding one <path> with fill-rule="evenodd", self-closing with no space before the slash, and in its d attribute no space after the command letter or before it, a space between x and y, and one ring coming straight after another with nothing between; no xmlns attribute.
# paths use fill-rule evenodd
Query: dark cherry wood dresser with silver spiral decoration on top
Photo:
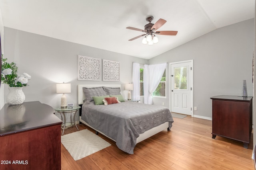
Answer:
<svg viewBox="0 0 256 170"><path fill-rule="evenodd" d="M248 149L252 134L252 97L214 96L212 138L216 135L241 141Z"/></svg>

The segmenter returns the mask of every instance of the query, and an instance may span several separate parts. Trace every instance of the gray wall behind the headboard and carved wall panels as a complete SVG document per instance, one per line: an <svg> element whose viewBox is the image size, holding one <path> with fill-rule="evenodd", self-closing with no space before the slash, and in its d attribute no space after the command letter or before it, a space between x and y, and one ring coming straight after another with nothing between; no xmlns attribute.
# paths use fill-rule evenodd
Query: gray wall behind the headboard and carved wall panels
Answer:
<svg viewBox="0 0 256 170"><path fill-rule="evenodd" d="M54 108L60 107L62 94L56 94L56 83L71 83L67 102L78 104L78 84L124 84L132 82L132 62L148 64L148 60L62 41L34 33L4 27L4 57L16 62L18 72L32 76L23 88L25 102L40 101ZM78 81L78 55L120 61L120 82ZM3 84L2 84L3 85ZM4 85L4 98L8 94Z"/></svg>

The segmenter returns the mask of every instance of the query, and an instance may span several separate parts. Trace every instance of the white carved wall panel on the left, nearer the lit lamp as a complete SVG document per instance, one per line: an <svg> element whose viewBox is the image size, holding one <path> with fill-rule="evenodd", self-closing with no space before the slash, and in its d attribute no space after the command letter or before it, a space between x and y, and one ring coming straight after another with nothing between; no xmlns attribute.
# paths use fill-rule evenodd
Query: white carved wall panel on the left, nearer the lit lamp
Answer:
<svg viewBox="0 0 256 170"><path fill-rule="evenodd" d="M78 55L78 80L100 81L100 60Z"/></svg>

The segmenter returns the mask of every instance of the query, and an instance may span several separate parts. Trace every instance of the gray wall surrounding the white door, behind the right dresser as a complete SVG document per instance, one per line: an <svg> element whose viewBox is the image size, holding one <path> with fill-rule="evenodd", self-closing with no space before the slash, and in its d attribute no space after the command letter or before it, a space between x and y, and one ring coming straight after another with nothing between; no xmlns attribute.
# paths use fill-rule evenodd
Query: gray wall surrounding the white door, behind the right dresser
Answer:
<svg viewBox="0 0 256 170"><path fill-rule="evenodd" d="M241 95L246 80L252 96L254 19L216 29L175 49L150 59L150 64L193 60L195 117L212 118L212 100L217 95ZM167 98L154 104L169 107L169 65L166 72Z"/></svg>

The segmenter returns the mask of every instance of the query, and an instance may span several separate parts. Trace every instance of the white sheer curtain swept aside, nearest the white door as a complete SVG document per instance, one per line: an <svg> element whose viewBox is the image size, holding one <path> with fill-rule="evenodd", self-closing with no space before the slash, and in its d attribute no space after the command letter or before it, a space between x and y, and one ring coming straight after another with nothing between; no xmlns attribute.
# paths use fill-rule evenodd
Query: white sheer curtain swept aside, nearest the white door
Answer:
<svg viewBox="0 0 256 170"><path fill-rule="evenodd" d="M144 104L153 104L152 93L156 90L166 69L167 63L145 65L143 70Z"/></svg>

